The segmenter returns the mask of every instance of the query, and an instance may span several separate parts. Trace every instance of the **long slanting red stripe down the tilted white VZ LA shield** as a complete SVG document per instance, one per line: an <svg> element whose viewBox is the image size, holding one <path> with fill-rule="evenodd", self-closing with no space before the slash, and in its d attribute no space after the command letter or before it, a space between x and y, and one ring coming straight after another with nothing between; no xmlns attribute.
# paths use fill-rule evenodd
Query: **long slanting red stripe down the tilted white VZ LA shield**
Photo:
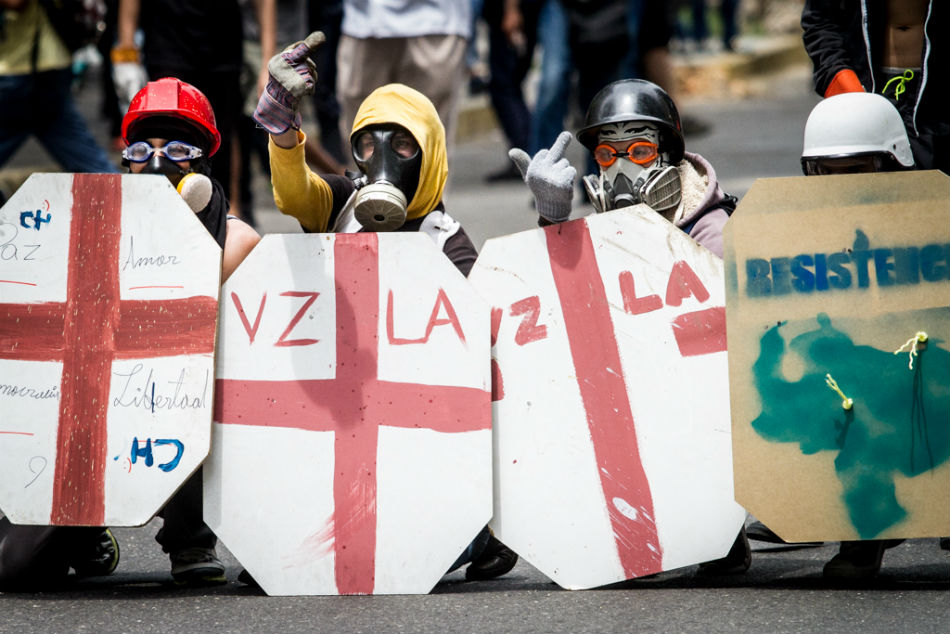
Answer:
<svg viewBox="0 0 950 634"><path fill-rule="evenodd" d="M663 559L653 496L590 231L585 220L544 231L620 564L628 578L652 574Z"/></svg>

